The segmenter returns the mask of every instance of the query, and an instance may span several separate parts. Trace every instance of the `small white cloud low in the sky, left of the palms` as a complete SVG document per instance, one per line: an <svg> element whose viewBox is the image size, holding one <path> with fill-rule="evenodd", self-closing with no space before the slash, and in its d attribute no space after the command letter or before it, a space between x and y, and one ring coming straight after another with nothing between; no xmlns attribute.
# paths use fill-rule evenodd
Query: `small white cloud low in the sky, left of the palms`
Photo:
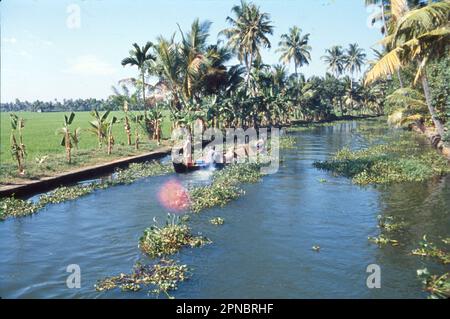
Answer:
<svg viewBox="0 0 450 319"><path fill-rule="evenodd" d="M76 75L113 75L116 69L95 55L81 55L68 60L69 67L63 72Z"/></svg>

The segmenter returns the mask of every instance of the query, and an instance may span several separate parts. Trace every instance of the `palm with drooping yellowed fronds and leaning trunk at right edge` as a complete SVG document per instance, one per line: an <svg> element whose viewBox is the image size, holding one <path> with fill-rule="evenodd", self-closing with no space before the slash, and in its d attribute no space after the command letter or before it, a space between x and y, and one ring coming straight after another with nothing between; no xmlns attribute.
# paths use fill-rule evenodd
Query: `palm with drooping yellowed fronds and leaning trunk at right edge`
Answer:
<svg viewBox="0 0 450 319"><path fill-rule="evenodd" d="M407 12L388 38L391 50L367 73L365 84L389 76L407 65L417 66L414 84L422 83L431 119L440 136L444 127L432 104L426 66L430 60L448 54L450 42L450 1L431 2Z"/></svg>

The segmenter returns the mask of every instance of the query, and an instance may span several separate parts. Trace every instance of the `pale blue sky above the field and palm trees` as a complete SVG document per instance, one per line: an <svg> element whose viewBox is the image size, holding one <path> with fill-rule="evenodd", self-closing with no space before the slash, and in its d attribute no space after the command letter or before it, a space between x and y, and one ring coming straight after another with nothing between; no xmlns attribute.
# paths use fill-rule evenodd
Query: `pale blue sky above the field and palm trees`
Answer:
<svg viewBox="0 0 450 319"><path fill-rule="evenodd" d="M275 33L265 63L278 63L279 37L298 25L310 33L312 62L301 72L323 75L326 48L357 42L370 47L379 30L370 28L363 0L260 0ZM1 10L1 100L106 98L111 85L135 76L122 67L131 44L170 36L176 23L187 30L199 17L211 21L211 42L227 26L239 0L3 0ZM79 24L76 10L80 9ZM75 17L75 20L73 19ZM75 21L75 22L74 22ZM370 55L369 55L370 56ZM293 69L293 67L291 68Z"/></svg>

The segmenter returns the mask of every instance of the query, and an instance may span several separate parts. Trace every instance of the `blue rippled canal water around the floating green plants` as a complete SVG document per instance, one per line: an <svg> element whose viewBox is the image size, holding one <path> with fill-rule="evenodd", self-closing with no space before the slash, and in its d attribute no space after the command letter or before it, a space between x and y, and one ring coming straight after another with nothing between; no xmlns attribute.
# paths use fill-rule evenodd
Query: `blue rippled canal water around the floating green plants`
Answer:
<svg viewBox="0 0 450 319"><path fill-rule="evenodd" d="M192 216L190 225L213 244L174 258L193 269L177 298L423 298L416 269L448 271L410 256L423 234L450 235L450 177L423 184L359 187L312 166L344 147L365 146L358 123L296 133L298 148L283 152L279 173L245 187L246 195ZM105 276L128 273L146 260L137 247L144 228L166 212L155 193L172 176L97 191L51 205L39 214L0 223L0 296L3 298L153 298L147 290L96 292ZM207 182L207 172L181 176ZM319 179L325 178L326 183ZM410 227L400 247L378 248L377 215L403 218ZM209 223L225 219L223 226ZM319 245L319 253L312 251ZM381 289L366 287L366 267L381 266ZM66 267L81 267L81 289L65 285Z"/></svg>

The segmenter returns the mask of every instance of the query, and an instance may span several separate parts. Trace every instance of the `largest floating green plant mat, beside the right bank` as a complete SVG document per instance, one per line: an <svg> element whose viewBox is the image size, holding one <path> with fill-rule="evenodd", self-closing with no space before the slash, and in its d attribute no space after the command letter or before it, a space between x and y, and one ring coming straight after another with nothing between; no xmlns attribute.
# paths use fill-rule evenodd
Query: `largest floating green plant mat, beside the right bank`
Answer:
<svg viewBox="0 0 450 319"><path fill-rule="evenodd" d="M450 172L447 160L435 150L423 150L409 137L365 150L344 148L329 161L314 166L353 179L359 185L421 182Z"/></svg>

